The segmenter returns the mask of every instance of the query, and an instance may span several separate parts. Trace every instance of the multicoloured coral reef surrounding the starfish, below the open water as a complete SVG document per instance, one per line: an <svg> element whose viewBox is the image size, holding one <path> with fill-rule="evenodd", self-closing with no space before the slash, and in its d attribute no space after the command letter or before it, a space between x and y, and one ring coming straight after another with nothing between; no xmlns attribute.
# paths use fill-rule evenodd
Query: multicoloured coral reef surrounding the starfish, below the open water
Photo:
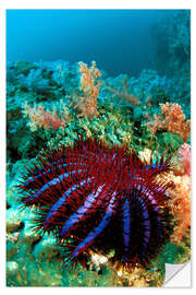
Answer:
<svg viewBox="0 0 196 295"><path fill-rule="evenodd" d="M8 63L8 285L160 286L166 262L189 259L191 152L189 120L185 120L189 119L189 91L184 87L187 72L182 69L179 73L179 80L152 70L144 70L138 78L109 78L95 62L89 68L62 60ZM160 103L164 106L162 115ZM147 125L154 115L159 122L155 133ZM155 125L152 120L149 123L151 128ZM173 155L174 169L166 181L173 186L167 189L171 198L167 205L174 232L149 269L136 264L115 271L113 250L107 255L89 250L86 269L78 263L75 272L68 272L61 263L62 247L59 249L47 233L32 231L35 213L20 211L15 179L26 173L29 158L38 165L46 149L72 149L78 135L100 140L110 149L123 145L130 152L135 150L144 163L152 158L156 163L166 150L167 155Z"/></svg>

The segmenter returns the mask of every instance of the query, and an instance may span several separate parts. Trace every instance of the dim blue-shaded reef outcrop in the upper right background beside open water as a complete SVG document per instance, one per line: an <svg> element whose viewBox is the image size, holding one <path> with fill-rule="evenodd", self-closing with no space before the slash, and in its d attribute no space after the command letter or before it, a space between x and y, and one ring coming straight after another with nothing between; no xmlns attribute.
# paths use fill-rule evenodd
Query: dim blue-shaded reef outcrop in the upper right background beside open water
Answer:
<svg viewBox="0 0 196 295"><path fill-rule="evenodd" d="M168 15L151 30L155 37L156 61L159 69L171 73L189 64L191 59L191 11L181 10ZM163 67L167 60L168 67ZM173 67L173 69L172 69Z"/></svg>

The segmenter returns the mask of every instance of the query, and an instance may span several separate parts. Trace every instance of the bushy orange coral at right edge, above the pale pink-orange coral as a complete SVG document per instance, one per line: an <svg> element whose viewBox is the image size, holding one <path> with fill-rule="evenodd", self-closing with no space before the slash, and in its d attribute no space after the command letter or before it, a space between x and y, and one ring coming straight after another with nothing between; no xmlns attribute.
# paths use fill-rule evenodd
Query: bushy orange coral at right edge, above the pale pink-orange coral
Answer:
<svg viewBox="0 0 196 295"><path fill-rule="evenodd" d="M185 142L189 138L191 120L185 120L182 107L179 104L160 104L161 115L154 115L154 120L148 126L155 133L158 129L164 129L168 132L179 134Z"/></svg>

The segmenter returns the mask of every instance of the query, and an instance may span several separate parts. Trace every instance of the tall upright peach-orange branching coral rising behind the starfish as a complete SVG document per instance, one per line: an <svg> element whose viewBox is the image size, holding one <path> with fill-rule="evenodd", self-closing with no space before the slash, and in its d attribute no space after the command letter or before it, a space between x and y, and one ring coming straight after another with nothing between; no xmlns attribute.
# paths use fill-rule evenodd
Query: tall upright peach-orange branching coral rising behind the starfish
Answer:
<svg viewBox="0 0 196 295"><path fill-rule="evenodd" d="M96 62L91 62L91 67L84 62L78 62L81 73L81 87L83 96L77 97L74 101L75 107L82 114L83 117L94 118L98 116L97 110L97 97L99 96L99 88L101 82L97 80L101 76L100 71L96 68Z"/></svg>

